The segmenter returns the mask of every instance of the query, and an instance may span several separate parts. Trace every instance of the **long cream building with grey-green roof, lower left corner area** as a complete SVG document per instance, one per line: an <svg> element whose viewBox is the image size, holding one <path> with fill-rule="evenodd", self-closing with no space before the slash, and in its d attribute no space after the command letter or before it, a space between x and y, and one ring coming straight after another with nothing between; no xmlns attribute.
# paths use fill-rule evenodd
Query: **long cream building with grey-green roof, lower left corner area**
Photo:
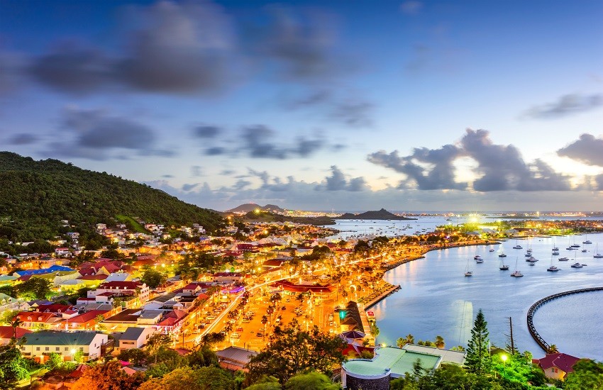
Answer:
<svg viewBox="0 0 603 390"><path fill-rule="evenodd" d="M40 363L46 362L52 352L61 355L63 360L73 360L77 352L82 352L84 361L98 359L109 341L109 336L101 333L52 330L40 330L26 338L20 347L21 355Z"/></svg>

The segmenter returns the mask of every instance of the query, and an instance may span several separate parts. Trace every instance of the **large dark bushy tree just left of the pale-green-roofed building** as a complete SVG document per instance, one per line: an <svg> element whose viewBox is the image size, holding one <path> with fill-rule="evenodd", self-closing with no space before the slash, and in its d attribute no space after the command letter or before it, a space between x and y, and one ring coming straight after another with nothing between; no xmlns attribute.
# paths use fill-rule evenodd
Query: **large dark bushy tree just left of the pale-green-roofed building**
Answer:
<svg viewBox="0 0 603 390"><path fill-rule="evenodd" d="M308 369L331 374L343 362L344 348L345 342L338 336L321 333L316 325L308 331L299 330L299 323L293 319L282 332L271 335L267 347L251 358L248 382L272 375L284 384Z"/></svg>

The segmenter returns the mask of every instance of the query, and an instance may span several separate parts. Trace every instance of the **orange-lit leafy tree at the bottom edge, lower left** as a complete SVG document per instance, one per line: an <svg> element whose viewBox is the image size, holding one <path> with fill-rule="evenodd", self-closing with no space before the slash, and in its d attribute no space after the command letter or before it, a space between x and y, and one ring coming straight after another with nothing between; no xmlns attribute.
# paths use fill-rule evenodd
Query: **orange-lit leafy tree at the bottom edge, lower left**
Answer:
<svg viewBox="0 0 603 390"><path fill-rule="evenodd" d="M128 375L121 369L121 363L112 360L90 367L73 384L73 390L135 390L144 381L144 374L136 372Z"/></svg>

